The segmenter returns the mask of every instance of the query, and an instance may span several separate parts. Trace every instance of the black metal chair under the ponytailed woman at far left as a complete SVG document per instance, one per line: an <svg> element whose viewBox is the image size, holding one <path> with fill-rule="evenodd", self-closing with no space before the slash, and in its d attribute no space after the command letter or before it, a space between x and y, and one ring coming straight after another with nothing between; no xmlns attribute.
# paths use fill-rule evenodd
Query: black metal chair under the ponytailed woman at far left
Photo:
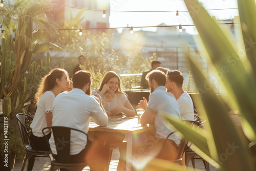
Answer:
<svg viewBox="0 0 256 171"><path fill-rule="evenodd" d="M27 170L30 171L33 169L34 162L35 162L35 157L49 157L50 151L36 151L31 147L30 141L29 141L29 136L31 134L31 129L30 129L30 123L33 120L33 117L26 115L26 114L17 114L16 119L18 121L18 127L20 131L20 135L22 136L22 141L23 144L26 148L26 153L23 158L23 163L22 163L22 168L20 169L21 171L24 170L24 167L26 165L26 161L28 160L28 167Z"/></svg>

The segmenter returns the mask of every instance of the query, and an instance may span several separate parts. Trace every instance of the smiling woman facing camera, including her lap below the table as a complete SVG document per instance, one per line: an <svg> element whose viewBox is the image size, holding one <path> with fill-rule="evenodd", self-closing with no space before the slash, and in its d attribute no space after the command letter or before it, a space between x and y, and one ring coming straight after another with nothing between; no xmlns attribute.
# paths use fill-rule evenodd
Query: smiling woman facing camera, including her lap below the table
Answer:
<svg viewBox="0 0 256 171"><path fill-rule="evenodd" d="M127 99L121 88L121 80L114 71L109 71L103 77L98 90L92 91L92 95L99 94L101 102L106 114L114 116L124 113L127 116L135 116L132 104ZM113 143L121 143L124 135L121 133L104 133L94 132L94 138L99 143L105 141L105 145L109 147Z"/></svg>

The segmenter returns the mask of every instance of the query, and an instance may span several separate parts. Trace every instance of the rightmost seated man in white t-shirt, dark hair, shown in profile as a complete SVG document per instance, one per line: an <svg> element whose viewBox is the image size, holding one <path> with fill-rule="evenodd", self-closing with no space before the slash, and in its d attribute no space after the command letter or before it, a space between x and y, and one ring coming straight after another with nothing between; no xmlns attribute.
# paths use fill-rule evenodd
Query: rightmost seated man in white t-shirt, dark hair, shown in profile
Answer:
<svg viewBox="0 0 256 171"><path fill-rule="evenodd" d="M180 71L168 71L166 73L167 92L172 93L176 98L181 120L194 120L194 105L191 97L183 90L183 75Z"/></svg>

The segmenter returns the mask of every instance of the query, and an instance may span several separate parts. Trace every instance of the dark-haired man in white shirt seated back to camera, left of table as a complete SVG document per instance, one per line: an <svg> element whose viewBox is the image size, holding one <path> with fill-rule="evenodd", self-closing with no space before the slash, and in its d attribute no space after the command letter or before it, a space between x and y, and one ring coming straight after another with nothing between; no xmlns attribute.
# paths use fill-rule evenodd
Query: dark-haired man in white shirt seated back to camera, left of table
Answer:
<svg viewBox="0 0 256 171"><path fill-rule="evenodd" d="M78 71L73 77L74 90L56 96L53 102L52 126L67 126L88 133L91 118L96 124L108 124L100 96L91 95L91 73ZM53 134L49 140L53 154L57 154ZM71 132L71 163L86 162L91 170L104 170L108 163L108 149L91 142L79 132Z"/></svg>

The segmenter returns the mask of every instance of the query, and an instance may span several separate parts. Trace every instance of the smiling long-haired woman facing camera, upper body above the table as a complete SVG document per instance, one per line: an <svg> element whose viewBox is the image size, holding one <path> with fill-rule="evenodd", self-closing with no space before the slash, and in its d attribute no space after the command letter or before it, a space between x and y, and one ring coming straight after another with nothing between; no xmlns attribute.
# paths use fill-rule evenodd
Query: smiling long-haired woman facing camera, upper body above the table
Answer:
<svg viewBox="0 0 256 171"><path fill-rule="evenodd" d="M122 91L120 77L114 71L105 74L99 89L92 92L92 95L94 94L101 96L103 108L109 116L120 113L135 116L132 104Z"/></svg>

